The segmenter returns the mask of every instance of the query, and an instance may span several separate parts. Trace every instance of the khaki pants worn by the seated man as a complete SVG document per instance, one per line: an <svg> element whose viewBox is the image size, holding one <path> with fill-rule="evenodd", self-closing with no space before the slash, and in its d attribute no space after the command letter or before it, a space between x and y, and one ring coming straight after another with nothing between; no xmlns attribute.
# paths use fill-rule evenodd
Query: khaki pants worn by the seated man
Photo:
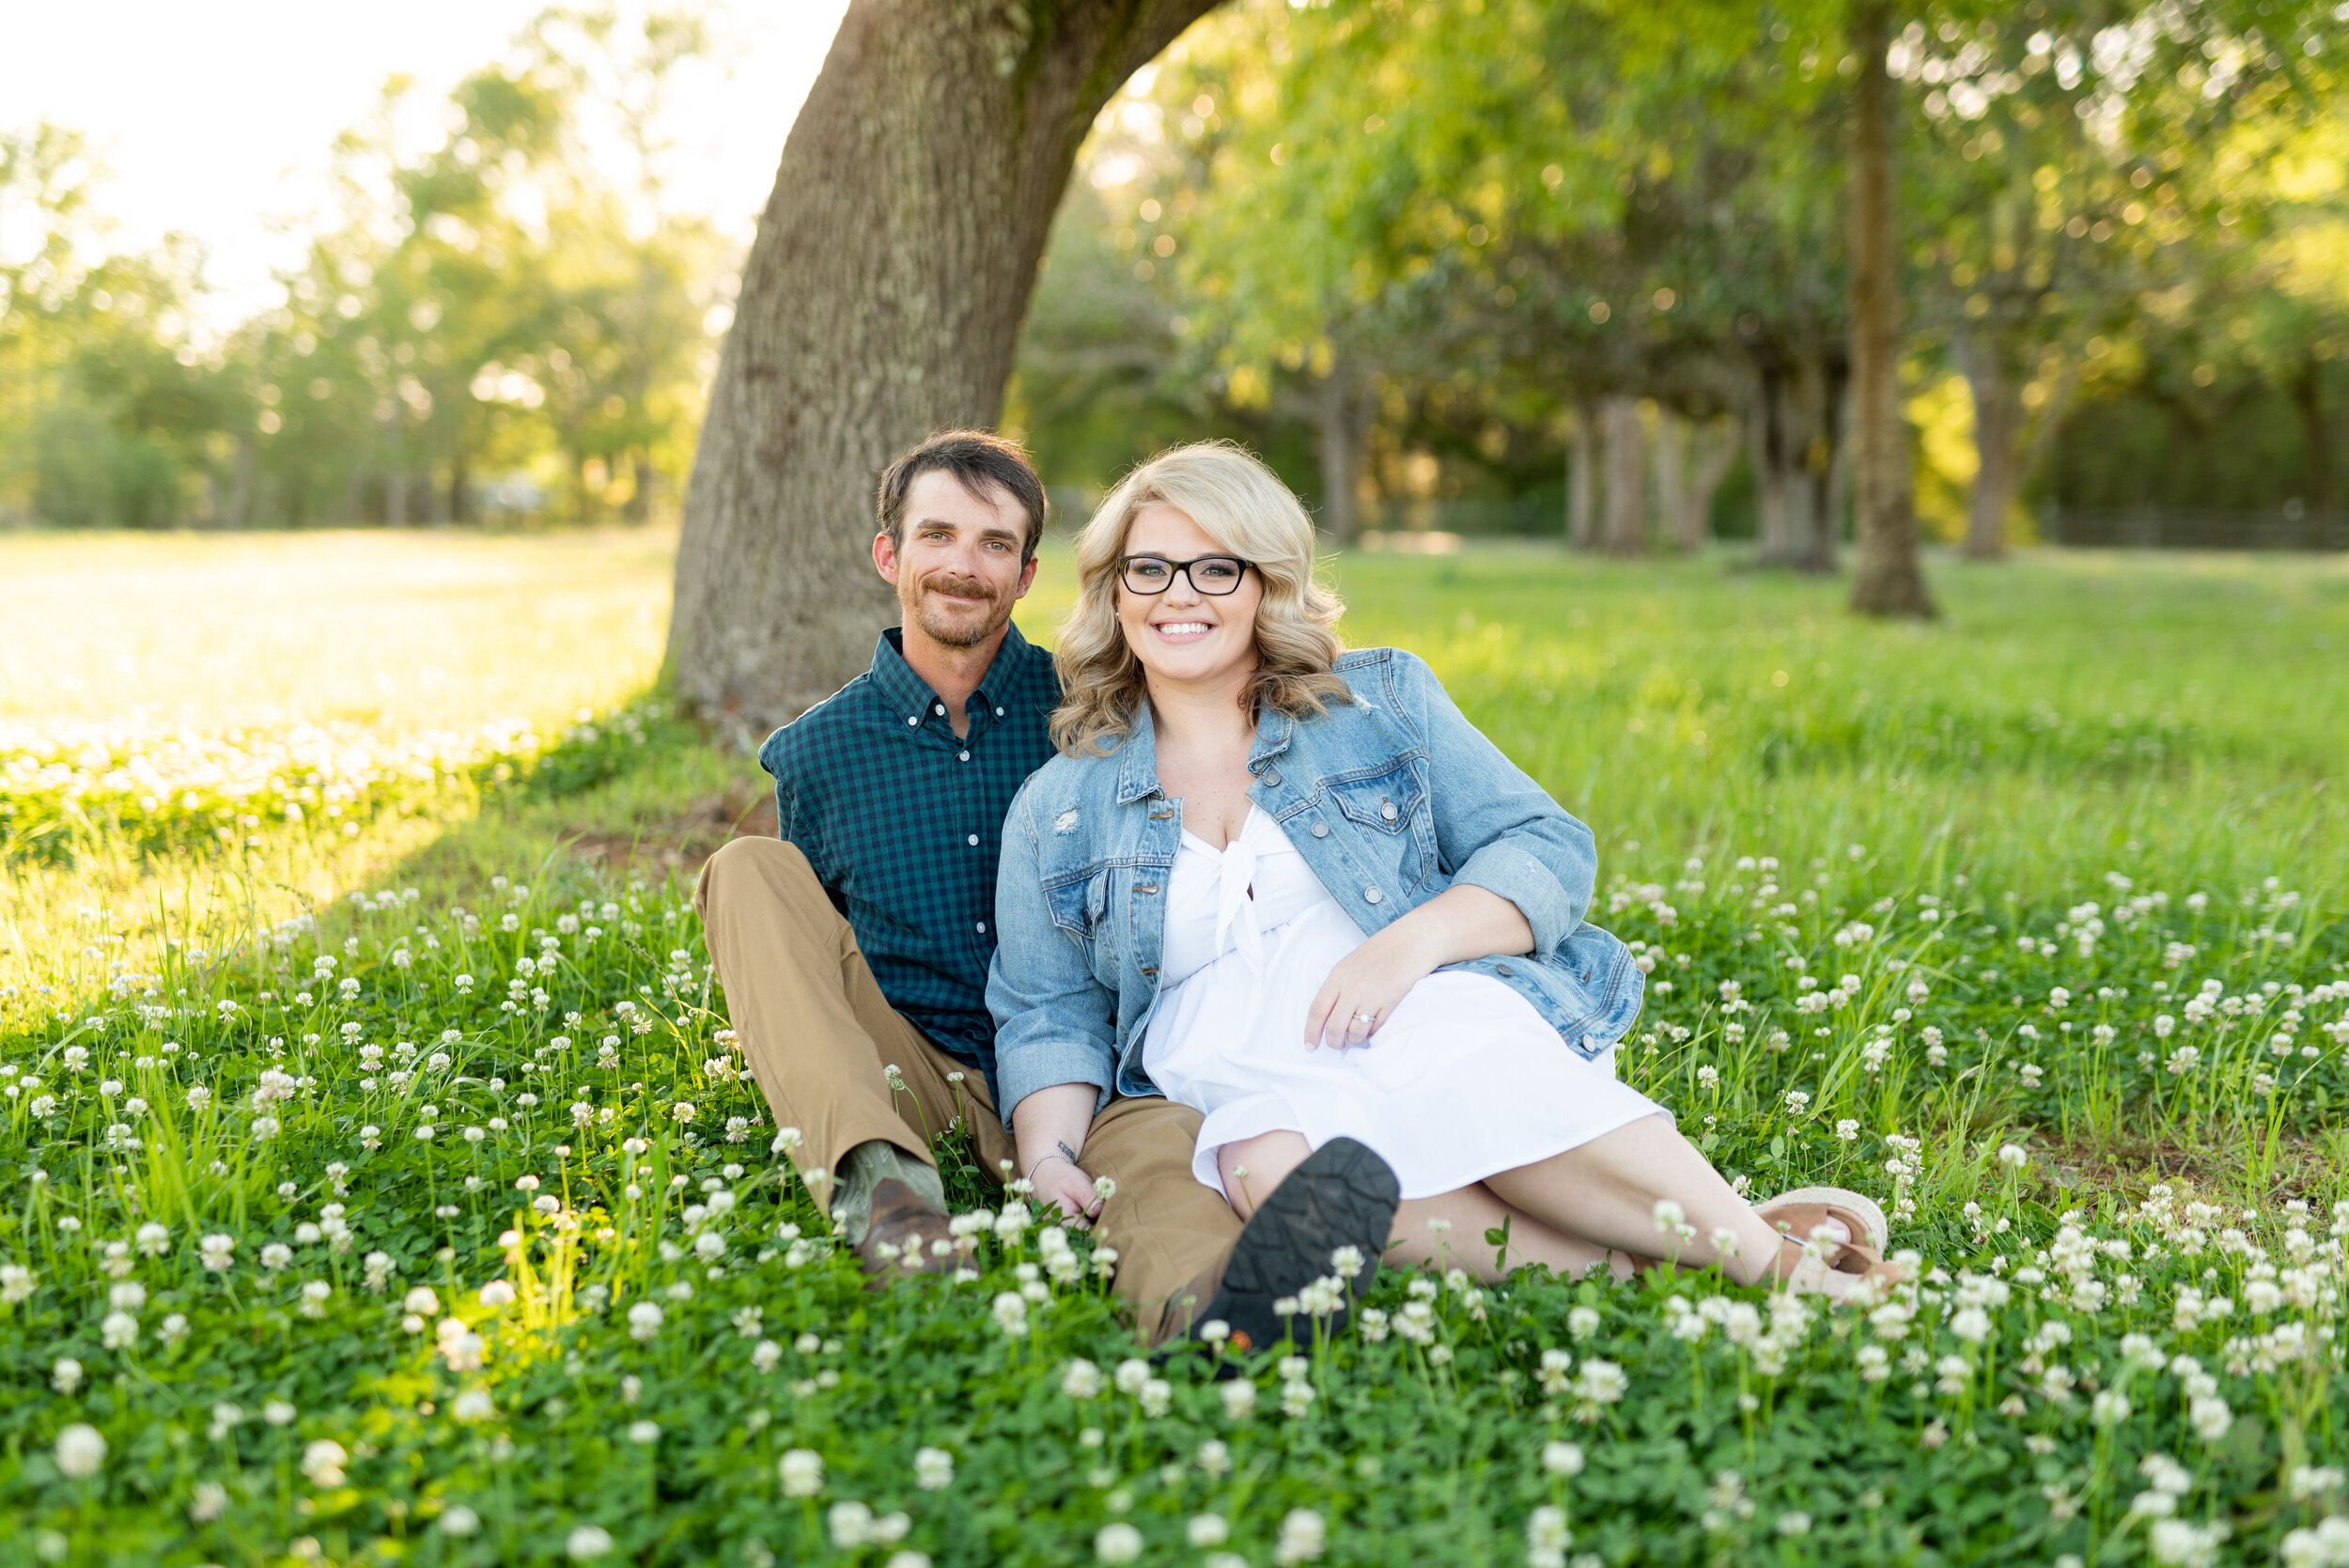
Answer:
<svg viewBox="0 0 2349 1568"><path fill-rule="evenodd" d="M693 906L742 1056L775 1124L801 1134L792 1160L803 1174L839 1171L869 1138L935 1164L930 1134L956 1117L989 1174L1015 1155L987 1077L888 1005L799 845L735 838L702 866ZM888 1087L890 1066L904 1091ZM1111 1099L1085 1134L1085 1169L1118 1183L1095 1232L1118 1249L1116 1286L1146 1336L1240 1235L1231 1207L1191 1176L1196 1141L1198 1113L1165 1099Z"/></svg>

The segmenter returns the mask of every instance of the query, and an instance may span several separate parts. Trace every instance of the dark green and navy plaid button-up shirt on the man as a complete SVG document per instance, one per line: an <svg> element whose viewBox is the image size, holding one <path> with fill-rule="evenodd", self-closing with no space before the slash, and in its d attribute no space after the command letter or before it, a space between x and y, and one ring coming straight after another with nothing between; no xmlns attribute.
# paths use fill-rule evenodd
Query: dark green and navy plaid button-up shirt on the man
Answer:
<svg viewBox="0 0 2349 1568"><path fill-rule="evenodd" d="M1052 655L1010 627L965 704L970 735L956 739L890 627L871 669L759 746L775 775L778 831L848 915L881 993L980 1068L989 1094L996 854L1012 796L1052 756L1057 704Z"/></svg>

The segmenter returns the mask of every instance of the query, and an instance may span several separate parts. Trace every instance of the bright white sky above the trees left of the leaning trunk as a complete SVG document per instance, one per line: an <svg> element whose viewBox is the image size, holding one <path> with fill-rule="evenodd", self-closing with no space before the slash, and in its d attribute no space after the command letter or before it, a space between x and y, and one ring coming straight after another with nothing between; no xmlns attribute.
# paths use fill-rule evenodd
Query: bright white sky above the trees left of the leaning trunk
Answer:
<svg viewBox="0 0 2349 1568"><path fill-rule="evenodd" d="M505 54L543 0L9 0L0 124L52 120L85 131L110 178L99 209L115 249L167 230L204 242L218 329L272 305L272 268L303 251L301 221L324 204L334 138L392 73L444 99ZM731 70L677 82L679 207L749 235L775 160L848 0L738 0L707 7ZM275 221L275 223L272 223Z"/></svg>

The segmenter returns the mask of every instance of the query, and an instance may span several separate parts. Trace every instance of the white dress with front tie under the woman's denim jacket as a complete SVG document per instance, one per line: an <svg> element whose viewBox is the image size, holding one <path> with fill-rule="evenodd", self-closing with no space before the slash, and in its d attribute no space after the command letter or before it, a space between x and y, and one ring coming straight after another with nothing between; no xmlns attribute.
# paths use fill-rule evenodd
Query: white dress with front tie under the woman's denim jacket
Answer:
<svg viewBox="0 0 2349 1568"><path fill-rule="evenodd" d="M1184 831L1142 1066L1205 1115L1191 1171L1217 1192L1217 1148L1276 1129L1358 1138L1405 1197L1435 1197L1663 1110L1616 1080L1614 1047L1581 1056L1487 974L1428 974L1365 1045L1306 1049L1313 995L1360 944L1264 812L1224 850Z"/></svg>

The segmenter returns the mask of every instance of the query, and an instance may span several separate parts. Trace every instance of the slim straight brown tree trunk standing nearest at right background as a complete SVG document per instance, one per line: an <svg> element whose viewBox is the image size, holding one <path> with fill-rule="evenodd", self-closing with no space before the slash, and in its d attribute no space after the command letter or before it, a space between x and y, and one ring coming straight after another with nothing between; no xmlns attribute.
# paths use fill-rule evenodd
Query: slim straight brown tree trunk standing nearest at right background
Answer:
<svg viewBox="0 0 2349 1568"><path fill-rule="evenodd" d="M1851 608L1933 615L1917 561L1907 423L1900 413L1900 223L1893 209L1893 80L1884 70L1891 5L1858 0L1851 54L1851 481L1858 493L1860 570Z"/></svg>

